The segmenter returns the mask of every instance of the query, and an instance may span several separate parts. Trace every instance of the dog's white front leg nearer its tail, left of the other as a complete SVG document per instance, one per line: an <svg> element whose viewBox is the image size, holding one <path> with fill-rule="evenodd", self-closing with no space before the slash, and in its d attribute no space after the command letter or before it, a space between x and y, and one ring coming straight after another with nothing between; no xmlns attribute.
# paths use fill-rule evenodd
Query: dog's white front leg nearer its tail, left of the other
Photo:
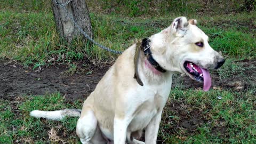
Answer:
<svg viewBox="0 0 256 144"><path fill-rule="evenodd" d="M130 117L119 118L115 116L114 118L114 143L125 144L127 127L131 122Z"/></svg>

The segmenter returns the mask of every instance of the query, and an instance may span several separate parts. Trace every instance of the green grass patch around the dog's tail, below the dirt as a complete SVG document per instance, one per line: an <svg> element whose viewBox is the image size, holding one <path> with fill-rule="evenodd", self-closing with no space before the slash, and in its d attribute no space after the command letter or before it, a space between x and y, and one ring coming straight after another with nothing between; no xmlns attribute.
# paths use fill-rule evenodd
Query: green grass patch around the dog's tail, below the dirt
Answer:
<svg viewBox="0 0 256 144"><path fill-rule="evenodd" d="M22 95L11 103L0 100L0 104L0 143L77 143L79 140L75 133L77 118L44 121L30 117L29 112L35 109L81 108L82 101L67 103L62 95L55 93L44 97Z"/></svg>

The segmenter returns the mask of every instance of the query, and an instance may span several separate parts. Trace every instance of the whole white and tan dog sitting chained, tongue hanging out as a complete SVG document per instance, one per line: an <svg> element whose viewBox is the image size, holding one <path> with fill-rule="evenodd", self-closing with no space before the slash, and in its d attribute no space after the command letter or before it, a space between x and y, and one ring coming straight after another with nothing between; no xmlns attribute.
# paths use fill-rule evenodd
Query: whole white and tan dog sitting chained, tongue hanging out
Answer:
<svg viewBox="0 0 256 144"><path fill-rule="evenodd" d="M82 143L156 143L172 74L186 73L211 86L207 69L225 60L208 43L196 20L176 18L160 33L139 41L118 57L85 100L82 111L31 111L34 117L80 116L76 132ZM139 141L145 129L145 142Z"/></svg>

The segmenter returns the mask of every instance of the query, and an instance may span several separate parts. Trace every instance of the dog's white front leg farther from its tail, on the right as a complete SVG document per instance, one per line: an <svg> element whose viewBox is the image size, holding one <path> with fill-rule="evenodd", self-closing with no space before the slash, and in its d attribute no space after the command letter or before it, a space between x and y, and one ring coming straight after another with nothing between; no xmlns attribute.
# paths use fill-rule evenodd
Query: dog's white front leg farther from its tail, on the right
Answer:
<svg viewBox="0 0 256 144"><path fill-rule="evenodd" d="M157 133L159 129L159 124L161 122L162 111L158 113L146 127L145 133L145 143L147 144L155 144L157 139Z"/></svg>

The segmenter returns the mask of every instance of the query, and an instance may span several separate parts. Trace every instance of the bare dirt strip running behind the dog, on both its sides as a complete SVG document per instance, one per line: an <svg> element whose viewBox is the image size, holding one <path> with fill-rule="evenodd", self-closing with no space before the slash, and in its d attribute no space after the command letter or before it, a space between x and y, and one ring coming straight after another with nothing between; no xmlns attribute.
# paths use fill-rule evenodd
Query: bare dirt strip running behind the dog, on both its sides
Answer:
<svg viewBox="0 0 256 144"><path fill-rule="evenodd" d="M219 71L211 73L213 89L247 91L256 84L256 60L234 61L243 70L235 71L236 75L221 77ZM67 100L86 99L95 89L101 77L111 66L93 66L87 63L78 64L75 74L70 74L69 68L63 65L34 69L25 68L18 63L0 62L0 98L13 99L21 94L44 95L59 91L66 95ZM182 89L201 89L202 83L190 79L188 76L177 74L174 76L172 87Z"/></svg>

